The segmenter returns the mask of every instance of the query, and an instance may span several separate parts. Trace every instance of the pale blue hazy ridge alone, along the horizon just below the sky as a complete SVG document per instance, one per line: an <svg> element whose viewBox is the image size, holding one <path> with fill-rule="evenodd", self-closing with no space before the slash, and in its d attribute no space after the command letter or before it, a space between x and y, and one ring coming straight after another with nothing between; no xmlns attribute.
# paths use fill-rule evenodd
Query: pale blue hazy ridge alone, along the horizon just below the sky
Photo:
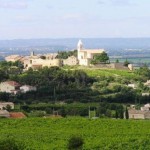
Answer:
<svg viewBox="0 0 150 150"><path fill-rule="evenodd" d="M0 48L63 46L76 48L80 38L0 40ZM85 47L106 49L150 49L150 38L81 38Z"/></svg>

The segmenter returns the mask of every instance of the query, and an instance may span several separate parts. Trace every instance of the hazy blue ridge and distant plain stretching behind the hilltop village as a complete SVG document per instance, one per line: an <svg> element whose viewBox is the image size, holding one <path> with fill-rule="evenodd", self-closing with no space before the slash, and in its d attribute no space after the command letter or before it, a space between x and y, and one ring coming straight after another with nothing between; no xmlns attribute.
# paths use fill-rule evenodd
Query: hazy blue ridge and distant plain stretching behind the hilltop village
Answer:
<svg viewBox="0 0 150 150"><path fill-rule="evenodd" d="M85 48L104 48L109 56L150 57L150 38L63 38L0 40L0 56L28 55L76 49L81 39Z"/></svg>

